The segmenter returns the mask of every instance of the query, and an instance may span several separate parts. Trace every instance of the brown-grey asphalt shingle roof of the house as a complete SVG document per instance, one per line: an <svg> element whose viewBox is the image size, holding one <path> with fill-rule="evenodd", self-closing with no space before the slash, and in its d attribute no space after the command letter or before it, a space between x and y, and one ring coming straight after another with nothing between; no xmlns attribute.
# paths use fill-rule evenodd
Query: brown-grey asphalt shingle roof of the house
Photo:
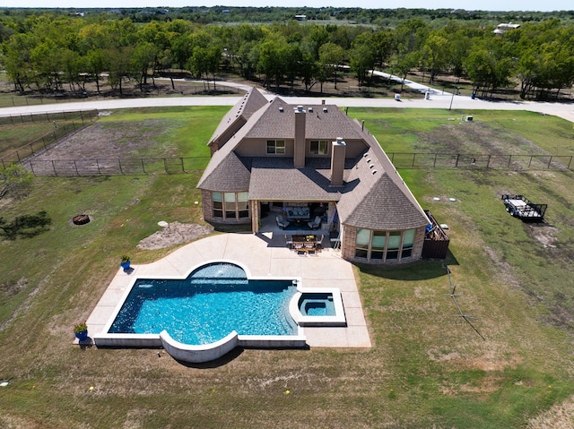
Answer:
<svg viewBox="0 0 574 429"><path fill-rule="evenodd" d="M345 160L344 186L330 186L330 159L307 158L305 167L294 168L291 157L241 159L234 153L244 138L292 139L294 107L276 98L252 111L247 123L213 154L197 187L248 191L251 200L335 201L341 221L354 227L397 230L429 223L377 139L334 105L304 107L306 139L343 137L366 143L360 157Z"/></svg>

